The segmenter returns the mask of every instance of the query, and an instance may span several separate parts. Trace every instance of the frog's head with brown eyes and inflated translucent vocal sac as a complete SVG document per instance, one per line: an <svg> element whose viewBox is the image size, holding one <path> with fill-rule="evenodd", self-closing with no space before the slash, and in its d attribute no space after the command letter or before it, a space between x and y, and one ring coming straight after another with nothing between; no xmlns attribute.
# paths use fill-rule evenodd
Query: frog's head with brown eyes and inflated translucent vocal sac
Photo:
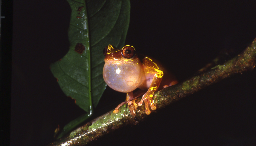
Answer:
<svg viewBox="0 0 256 146"><path fill-rule="evenodd" d="M140 86L145 77L133 46L126 45L122 49L116 49L108 45L103 54L103 78L108 86L119 92L131 92Z"/></svg>

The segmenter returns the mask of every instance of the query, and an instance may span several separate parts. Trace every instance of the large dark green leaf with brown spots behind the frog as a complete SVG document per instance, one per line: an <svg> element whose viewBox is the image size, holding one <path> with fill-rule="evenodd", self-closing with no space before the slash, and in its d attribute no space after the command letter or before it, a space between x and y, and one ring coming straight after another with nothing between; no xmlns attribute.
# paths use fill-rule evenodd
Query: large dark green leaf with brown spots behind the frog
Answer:
<svg viewBox="0 0 256 146"><path fill-rule="evenodd" d="M103 48L109 44L118 48L124 46L130 2L67 1L72 10L68 30L70 48L61 60L51 65L51 71L63 92L75 99L84 111L91 112L106 87L102 76Z"/></svg>

